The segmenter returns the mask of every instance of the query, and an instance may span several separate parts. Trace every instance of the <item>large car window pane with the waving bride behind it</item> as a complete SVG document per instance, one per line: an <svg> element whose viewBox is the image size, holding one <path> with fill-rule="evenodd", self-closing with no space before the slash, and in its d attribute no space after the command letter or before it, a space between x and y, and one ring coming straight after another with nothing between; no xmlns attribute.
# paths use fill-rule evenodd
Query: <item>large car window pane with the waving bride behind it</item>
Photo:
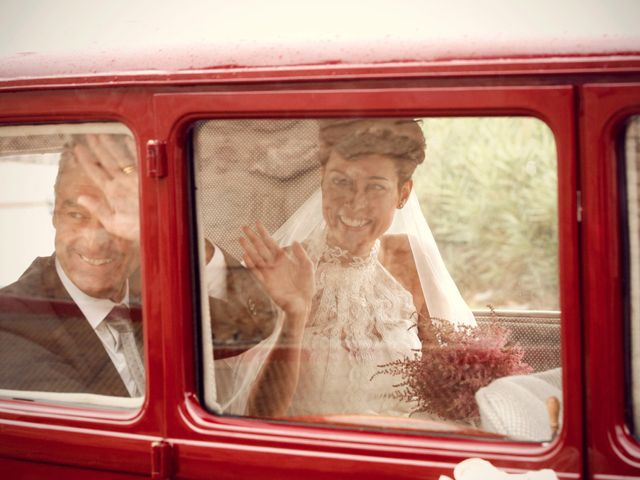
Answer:
<svg viewBox="0 0 640 480"><path fill-rule="evenodd" d="M557 166L543 122L210 120L192 139L212 411L551 437Z"/></svg>

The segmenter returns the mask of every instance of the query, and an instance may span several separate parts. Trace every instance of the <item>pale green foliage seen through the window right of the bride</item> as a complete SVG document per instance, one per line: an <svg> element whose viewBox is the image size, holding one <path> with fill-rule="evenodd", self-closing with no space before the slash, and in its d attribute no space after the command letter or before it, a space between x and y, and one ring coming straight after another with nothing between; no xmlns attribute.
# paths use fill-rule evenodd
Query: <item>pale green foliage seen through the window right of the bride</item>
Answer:
<svg viewBox="0 0 640 480"><path fill-rule="evenodd" d="M558 308L556 150L528 117L423 121L420 204L472 308Z"/></svg>

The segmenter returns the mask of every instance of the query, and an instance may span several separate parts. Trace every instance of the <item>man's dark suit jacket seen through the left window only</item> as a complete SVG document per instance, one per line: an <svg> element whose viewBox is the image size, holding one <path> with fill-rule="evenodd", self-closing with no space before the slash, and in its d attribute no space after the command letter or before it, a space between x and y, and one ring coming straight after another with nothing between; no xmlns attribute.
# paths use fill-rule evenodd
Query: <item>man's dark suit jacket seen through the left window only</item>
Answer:
<svg viewBox="0 0 640 480"><path fill-rule="evenodd" d="M131 300L141 338L139 303ZM0 388L129 396L62 285L53 256L36 258L18 281L0 290Z"/></svg>

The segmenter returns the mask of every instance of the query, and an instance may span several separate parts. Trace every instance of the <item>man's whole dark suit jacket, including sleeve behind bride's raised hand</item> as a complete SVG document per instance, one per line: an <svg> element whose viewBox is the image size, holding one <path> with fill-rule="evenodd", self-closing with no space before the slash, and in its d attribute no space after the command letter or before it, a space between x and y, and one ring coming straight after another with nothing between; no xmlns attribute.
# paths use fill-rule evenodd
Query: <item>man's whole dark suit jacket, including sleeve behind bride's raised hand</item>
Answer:
<svg viewBox="0 0 640 480"><path fill-rule="evenodd" d="M254 277L232 257L226 255L226 261L227 300L210 299L216 358L237 355L265 338L276 311ZM139 296L130 290L141 343ZM102 342L62 285L53 256L37 258L18 281L0 290L0 388L129 396Z"/></svg>

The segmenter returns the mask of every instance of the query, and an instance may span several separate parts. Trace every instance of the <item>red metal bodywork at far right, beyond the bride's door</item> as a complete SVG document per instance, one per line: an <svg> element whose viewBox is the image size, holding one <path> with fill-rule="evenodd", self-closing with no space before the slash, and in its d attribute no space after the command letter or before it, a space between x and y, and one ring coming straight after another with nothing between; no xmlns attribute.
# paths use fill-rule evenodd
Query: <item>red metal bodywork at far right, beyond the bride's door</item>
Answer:
<svg viewBox="0 0 640 480"><path fill-rule="evenodd" d="M624 419L622 270L616 135L640 113L640 84L582 89L580 151L586 448L592 478L640 477L640 444Z"/></svg>

